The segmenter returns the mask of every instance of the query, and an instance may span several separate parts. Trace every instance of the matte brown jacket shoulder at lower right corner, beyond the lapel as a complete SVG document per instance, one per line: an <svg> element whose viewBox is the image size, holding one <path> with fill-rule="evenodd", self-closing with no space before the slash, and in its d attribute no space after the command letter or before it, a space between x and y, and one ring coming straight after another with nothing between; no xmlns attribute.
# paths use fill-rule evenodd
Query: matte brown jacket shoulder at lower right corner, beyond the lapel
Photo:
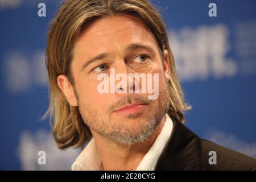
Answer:
<svg viewBox="0 0 256 182"><path fill-rule="evenodd" d="M256 159L250 156L205 139L201 139L201 146L205 170L256 170Z"/></svg>

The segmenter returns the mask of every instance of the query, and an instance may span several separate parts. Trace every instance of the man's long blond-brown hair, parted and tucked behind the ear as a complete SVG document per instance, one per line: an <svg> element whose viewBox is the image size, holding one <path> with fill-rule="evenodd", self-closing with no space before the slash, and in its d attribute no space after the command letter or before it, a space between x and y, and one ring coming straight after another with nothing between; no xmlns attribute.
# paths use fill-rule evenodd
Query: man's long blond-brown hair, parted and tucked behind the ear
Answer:
<svg viewBox="0 0 256 182"><path fill-rule="evenodd" d="M70 65L73 46L82 28L93 20L118 14L133 15L141 19L154 36L160 51L167 49L170 60L171 79L168 92L171 104L168 114L184 123L183 112L189 109L177 78L166 26L155 8L146 0L68 0L60 7L51 22L46 48L46 65L49 76L49 115L54 120L52 132L61 149L80 147L92 134L85 125L77 107L69 105L57 85L57 76L66 75L73 82Z"/></svg>

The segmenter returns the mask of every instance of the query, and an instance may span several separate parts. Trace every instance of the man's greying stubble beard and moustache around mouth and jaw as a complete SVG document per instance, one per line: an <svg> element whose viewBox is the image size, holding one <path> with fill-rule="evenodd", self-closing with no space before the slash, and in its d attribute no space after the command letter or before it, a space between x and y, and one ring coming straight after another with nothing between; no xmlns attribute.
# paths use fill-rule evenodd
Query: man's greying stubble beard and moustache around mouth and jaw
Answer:
<svg viewBox="0 0 256 182"><path fill-rule="evenodd" d="M106 140L123 145L138 144L148 139L167 113L171 102L167 84L164 84L163 90L159 93L159 98L154 101L147 101L152 106L152 112L147 115L146 121L140 122L136 131L130 131L124 123L110 121L110 115L104 118L102 115L98 114L97 109L93 109L88 105L80 105L77 94L76 97L79 102L78 105L81 117L89 129L95 131ZM139 94L129 94L122 98L122 102L146 100L146 97L142 97ZM140 117L140 115L139 113L130 114L127 115L127 118L135 119Z"/></svg>

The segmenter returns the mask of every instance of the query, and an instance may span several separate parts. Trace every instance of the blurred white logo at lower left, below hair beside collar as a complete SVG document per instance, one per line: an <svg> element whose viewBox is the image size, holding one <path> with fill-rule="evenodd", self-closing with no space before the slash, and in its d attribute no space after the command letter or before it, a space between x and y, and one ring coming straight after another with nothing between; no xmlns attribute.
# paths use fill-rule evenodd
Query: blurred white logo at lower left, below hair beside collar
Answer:
<svg viewBox="0 0 256 182"><path fill-rule="evenodd" d="M72 148L59 150L52 134L44 130L35 134L24 131L19 138L18 157L22 170L71 170L72 163L81 152Z"/></svg>

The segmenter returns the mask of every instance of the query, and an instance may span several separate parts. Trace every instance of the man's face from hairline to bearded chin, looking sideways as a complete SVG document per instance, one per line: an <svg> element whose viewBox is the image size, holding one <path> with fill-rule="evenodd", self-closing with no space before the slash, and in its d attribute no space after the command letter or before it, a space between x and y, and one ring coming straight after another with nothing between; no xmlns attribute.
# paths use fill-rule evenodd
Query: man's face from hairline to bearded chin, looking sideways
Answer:
<svg viewBox="0 0 256 182"><path fill-rule="evenodd" d="M92 59L95 56L97 59ZM90 130L123 144L148 138L170 104L166 85L167 57L165 53L162 58L154 37L138 19L119 15L89 24L76 41L71 71L77 105ZM151 81L158 82L159 97L148 100L148 92L99 93L98 85L102 80L98 80L98 75L105 73L110 78L111 68L115 75L151 73ZM154 73L158 73L158 80L154 80ZM115 80L115 84L119 81ZM139 88L142 84L141 81ZM154 83L152 85L154 87ZM134 86L127 85L129 89ZM130 108L122 109L126 106Z"/></svg>

